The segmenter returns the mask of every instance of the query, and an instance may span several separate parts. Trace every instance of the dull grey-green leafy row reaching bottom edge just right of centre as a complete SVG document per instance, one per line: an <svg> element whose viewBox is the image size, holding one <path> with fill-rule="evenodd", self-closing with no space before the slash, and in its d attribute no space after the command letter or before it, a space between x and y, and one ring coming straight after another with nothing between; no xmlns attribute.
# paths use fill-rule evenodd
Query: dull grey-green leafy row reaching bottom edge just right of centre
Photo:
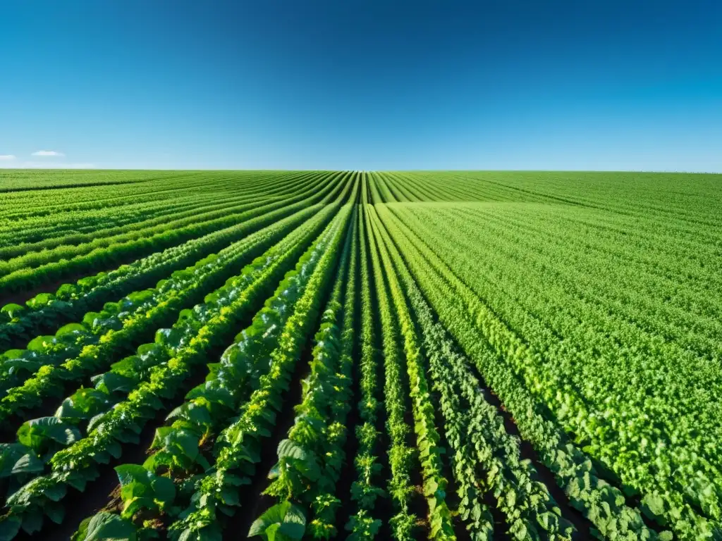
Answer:
<svg viewBox="0 0 722 541"><path fill-rule="evenodd" d="M375 212L372 211L375 215ZM481 493L492 493L497 509L505 515L508 531L517 539L569 539L573 527L562 519L557 503L547 488L536 480L536 472L529 462L520 459L518 442L506 434L503 419L495 408L484 400L474 374L466 359L454 353L443 327L433 322L426 304L403 260L376 221L376 234L383 238L382 258L387 269L396 270L419 322L419 331L412 330L409 317L409 336L419 340L423 335L429 366L426 369L435 380L447 439L454 452L453 467L461 496L461 513L469 522L471 534L479 539L490 538L492 525L489 513L481 501ZM393 261L391 260L391 252ZM397 282L393 273L391 281ZM399 288L399 298L401 289ZM408 312L406 304L401 309ZM417 335L418 333L418 335ZM419 356L423 360L423 356ZM428 390L426 391L428 392ZM485 475L478 475L481 470Z"/></svg>

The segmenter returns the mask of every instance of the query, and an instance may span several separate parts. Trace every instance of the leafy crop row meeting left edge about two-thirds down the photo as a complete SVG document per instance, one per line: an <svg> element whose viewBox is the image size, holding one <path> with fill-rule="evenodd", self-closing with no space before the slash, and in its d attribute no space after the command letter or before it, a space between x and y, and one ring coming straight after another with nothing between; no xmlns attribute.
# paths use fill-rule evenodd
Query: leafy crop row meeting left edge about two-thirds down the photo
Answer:
<svg viewBox="0 0 722 541"><path fill-rule="evenodd" d="M88 312L82 323L69 324L55 336L32 340L30 349L6 352L2 367L14 384L0 399L0 418L19 415L45 397L62 393L67 382L76 382L110 364L123 351L148 333L175 320L178 313L233 275L236 265L250 261L297 226L318 208L307 208L251 234L184 271L175 271L155 289L147 289L106 303L101 312Z"/></svg>

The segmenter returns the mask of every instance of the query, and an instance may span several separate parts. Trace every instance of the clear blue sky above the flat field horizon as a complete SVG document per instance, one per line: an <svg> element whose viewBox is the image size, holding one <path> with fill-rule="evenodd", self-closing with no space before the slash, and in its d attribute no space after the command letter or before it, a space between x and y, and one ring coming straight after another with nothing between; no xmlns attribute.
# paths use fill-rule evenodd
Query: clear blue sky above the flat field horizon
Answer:
<svg viewBox="0 0 722 541"><path fill-rule="evenodd" d="M718 1L0 12L0 167L722 172Z"/></svg>

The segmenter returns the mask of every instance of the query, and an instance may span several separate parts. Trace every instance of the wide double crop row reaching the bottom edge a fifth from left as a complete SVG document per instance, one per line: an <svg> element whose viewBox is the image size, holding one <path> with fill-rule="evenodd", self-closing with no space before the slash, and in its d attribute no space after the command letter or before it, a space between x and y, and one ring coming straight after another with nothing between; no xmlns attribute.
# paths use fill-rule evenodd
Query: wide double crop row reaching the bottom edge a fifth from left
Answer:
<svg viewBox="0 0 722 541"><path fill-rule="evenodd" d="M226 350L220 369L211 371L206 384L191 391L189 400L173 413L173 423L157 432L157 451L145 462L144 472L134 467L132 478L126 480L125 472L131 467L118 467L123 491L128 495L123 497L120 516L109 511L97 514L84 524L85 531L95 532L98 524L103 524L113 532L124 528L125 532L142 535L151 526L145 525L147 522L136 524L134 519L144 509L162 511L175 520L166 524L172 536L217 538L222 514L233 514L242 503L238 487L249 482L248 475L253 474L260 459L261 441L271 436L293 367L338 264L338 252L344 253L342 262L347 258L351 245L347 224L352 208L348 205L342 209L331 229L306 252L295 273L284 279L266 308L258 312L251 327ZM238 384L238 377L245 378L245 385ZM201 439L215 441L212 453L201 453ZM161 475L165 471L168 476ZM152 491L157 478L173 481L173 498L134 498L139 489L132 487L142 482ZM126 490L129 485L132 487ZM140 515L147 516L147 512ZM83 539L84 534L79 533Z"/></svg>

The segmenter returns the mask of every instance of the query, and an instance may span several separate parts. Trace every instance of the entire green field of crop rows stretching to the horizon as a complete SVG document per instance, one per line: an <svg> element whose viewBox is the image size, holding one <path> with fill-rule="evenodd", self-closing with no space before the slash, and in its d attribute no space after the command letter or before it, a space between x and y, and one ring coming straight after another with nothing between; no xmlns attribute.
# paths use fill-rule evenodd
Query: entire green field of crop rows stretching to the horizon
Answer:
<svg viewBox="0 0 722 541"><path fill-rule="evenodd" d="M0 541L722 540L722 175L0 173Z"/></svg>

